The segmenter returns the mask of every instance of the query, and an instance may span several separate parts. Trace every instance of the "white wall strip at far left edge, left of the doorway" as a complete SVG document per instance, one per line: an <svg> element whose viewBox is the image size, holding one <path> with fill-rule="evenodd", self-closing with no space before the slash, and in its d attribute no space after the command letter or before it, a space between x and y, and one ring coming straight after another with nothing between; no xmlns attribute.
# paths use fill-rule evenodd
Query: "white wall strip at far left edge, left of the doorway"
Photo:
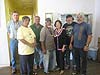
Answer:
<svg viewBox="0 0 100 75"><path fill-rule="evenodd" d="M5 20L4 0L0 0L0 67L10 65Z"/></svg>

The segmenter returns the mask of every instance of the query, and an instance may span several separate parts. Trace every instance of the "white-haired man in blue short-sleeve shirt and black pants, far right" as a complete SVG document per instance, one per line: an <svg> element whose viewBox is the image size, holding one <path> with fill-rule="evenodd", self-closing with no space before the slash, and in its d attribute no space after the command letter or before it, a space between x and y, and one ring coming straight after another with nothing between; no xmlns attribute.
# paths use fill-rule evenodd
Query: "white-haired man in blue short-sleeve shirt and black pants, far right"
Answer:
<svg viewBox="0 0 100 75"><path fill-rule="evenodd" d="M91 25L84 22L83 13L79 13L77 15L77 22L78 24L75 24L73 29L69 48L72 48L72 42L74 41L73 48L75 52L76 73L86 75L87 52L89 44L92 40L92 29Z"/></svg>

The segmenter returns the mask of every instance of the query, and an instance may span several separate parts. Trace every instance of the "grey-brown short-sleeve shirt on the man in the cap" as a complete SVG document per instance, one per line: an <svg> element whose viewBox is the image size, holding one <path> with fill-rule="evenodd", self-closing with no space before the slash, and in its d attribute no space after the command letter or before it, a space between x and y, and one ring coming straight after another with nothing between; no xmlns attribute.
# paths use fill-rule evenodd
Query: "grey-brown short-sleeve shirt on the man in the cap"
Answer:
<svg viewBox="0 0 100 75"><path fill-rule="evenodd" d="M54 43L54 37L52 36L54 34L54 30L49 29L47 27L43 27L40 32L40 41L45 43L47 50L54 50L55 49L55 43Z"/></svg>

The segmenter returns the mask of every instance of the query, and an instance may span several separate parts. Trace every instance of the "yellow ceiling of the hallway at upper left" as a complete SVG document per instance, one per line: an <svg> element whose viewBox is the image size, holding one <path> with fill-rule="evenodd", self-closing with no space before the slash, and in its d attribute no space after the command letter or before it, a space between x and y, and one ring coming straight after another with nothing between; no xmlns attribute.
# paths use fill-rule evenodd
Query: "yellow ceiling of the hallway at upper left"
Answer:
<svg viewBox="0 0 100 75"><path fill-rule="evenodd" d="M37 0L8 0L11 10L16 10L20 14L33 14L37 12Z"/></svg>

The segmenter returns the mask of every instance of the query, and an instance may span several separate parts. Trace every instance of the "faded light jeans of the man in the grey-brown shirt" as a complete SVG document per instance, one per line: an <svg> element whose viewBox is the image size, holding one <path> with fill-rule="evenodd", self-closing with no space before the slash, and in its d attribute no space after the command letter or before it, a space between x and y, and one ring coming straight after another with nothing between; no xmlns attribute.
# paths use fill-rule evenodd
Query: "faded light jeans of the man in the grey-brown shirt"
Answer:
<svg viewBox="0 0 100 75"><path fill-rule="evenodd" d="M47 50L47 53L43 54L43 65L45 73L47 73L48 70L54 70L56 66L55 50Z"/></svg>

